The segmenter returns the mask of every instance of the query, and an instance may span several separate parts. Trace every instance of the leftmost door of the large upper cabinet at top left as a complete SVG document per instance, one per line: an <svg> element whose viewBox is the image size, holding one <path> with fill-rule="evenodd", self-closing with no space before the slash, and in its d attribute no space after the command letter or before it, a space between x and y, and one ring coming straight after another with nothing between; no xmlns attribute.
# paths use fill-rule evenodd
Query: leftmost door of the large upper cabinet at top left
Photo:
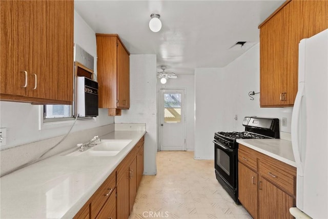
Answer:
<svg viewBox="0 0 328 219"><path fill-rule="evenodd" d="M30 7L28 1L0 1L1 94L26 95Z"/></svg>

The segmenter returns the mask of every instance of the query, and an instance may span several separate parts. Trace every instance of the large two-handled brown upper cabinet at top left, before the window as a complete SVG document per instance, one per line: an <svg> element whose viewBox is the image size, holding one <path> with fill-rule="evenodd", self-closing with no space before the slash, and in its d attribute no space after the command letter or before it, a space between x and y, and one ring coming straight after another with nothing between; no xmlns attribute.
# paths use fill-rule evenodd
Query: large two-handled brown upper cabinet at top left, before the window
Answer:
<svg viewBox="0 0 328 219"><path fill-rule="evenodd" d="M73 102L74 1L1 1L2 101Z"/></svg>

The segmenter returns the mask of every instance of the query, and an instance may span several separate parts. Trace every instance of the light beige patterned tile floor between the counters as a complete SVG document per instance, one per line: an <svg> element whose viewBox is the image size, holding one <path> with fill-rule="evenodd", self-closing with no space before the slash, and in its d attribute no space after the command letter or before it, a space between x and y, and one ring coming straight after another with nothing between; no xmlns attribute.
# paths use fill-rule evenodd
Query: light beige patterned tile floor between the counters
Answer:
<svg viewBox="0 0 328 219"><path fill-rule="evenodd" d="M157 175L144 175L129 219L252 218L215 178L213 160L193 151L157 152Z"/></svg>

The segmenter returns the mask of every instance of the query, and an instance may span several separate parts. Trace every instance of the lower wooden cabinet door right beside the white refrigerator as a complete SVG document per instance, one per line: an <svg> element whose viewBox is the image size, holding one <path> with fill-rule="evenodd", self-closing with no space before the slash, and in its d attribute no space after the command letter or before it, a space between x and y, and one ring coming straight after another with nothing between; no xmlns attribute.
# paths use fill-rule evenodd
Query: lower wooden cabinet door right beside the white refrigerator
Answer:
<svg viewBox="0 0 328 219"><path fill-rule="evenodd" d="M295 199L259 176L258 218L294 218L289 209Z"/></svg>

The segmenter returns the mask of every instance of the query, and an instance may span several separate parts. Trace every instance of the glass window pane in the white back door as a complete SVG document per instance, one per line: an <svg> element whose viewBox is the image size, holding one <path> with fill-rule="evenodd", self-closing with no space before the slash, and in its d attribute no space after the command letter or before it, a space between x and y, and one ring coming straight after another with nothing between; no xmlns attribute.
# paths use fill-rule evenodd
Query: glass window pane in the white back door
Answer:
<svg viewBox="0 0 328 219"><path fill-rule="evenodd" d="M164 122L181 122L181 93L164 93Z"/></svg>

